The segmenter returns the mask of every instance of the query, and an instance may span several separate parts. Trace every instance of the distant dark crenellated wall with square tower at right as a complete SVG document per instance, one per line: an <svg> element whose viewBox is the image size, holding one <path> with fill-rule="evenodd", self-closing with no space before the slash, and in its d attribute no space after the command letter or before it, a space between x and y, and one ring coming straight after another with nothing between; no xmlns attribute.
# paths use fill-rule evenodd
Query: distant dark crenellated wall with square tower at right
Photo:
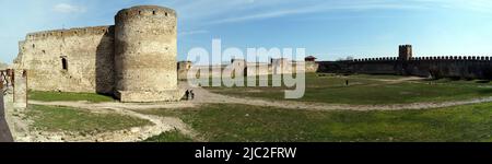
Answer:
<svg viewBox="0 0 492 164"><path fill-rule="evenodd" d="M411 45L400 45L398 57L343 61L319 61L318 72L398 74L424 78L492 79L490 57L437 56L413 57Z"/></svg>

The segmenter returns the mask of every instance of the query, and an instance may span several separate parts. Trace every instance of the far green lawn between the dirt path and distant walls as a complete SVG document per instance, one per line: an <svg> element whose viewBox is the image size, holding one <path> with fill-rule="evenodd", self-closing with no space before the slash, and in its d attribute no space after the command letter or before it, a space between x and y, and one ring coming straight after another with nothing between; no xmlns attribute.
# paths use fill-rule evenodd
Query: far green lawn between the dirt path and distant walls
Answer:
<svg viewBox="0 0 492 164"><path fill-rule="evenodd" d="M335 104L409 104L446 102L492 96L490 83L475 81L411 81L390 83L378 81L382 75L318 77L306 74L306 92L300 99L285 99L288 87L207 87L211 92L237 97ZM383 75L384 80L397 75ZM402 77L400 77L402 78ZM349 80L350 86L345 86ZM289 89L291 90L291 89Z"/></svg>

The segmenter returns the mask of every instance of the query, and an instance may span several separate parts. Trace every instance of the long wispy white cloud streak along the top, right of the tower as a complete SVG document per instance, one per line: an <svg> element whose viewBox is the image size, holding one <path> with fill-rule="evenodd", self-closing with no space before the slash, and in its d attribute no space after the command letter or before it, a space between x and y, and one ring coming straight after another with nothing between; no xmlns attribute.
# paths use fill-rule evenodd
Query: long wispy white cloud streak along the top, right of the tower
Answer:
<svg viewBox="0 0 492 164"><path fill-rule="evenodd" d="M218 2L219 1L219 2ZM219 5L220 4L220 5ZM197 0L178 5L178 12L194 24L216 25L323 12L465 10L490 12L490 0ZM183 19L183 16L181 16Z"/></svg>

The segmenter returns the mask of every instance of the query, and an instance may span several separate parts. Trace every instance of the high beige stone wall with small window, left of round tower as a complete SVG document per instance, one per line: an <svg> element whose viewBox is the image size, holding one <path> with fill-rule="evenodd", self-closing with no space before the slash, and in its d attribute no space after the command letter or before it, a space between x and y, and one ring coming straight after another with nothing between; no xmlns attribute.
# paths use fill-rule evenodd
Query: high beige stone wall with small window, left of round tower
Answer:
<svg viewBox="0 0 492 164"><path fill-rule="evenodd" d="M27 70L31 90L112 93L113 36L112 26L31 33L14 67Z"/></svg>

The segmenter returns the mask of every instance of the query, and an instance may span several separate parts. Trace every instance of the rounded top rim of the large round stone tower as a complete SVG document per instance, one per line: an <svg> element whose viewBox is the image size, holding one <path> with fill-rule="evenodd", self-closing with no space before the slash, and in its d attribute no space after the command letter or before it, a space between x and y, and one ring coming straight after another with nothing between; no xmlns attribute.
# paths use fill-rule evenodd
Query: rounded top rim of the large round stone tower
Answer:
<svg viewBox="0 0 492 164"><path fill-rule="evenodd" d="M115 20L127 20L131 17L139 16L164 16L164 17L176 17L176 11L169 8L157 7L157 5L138 5L129 9L120 10Z"/></svg>

